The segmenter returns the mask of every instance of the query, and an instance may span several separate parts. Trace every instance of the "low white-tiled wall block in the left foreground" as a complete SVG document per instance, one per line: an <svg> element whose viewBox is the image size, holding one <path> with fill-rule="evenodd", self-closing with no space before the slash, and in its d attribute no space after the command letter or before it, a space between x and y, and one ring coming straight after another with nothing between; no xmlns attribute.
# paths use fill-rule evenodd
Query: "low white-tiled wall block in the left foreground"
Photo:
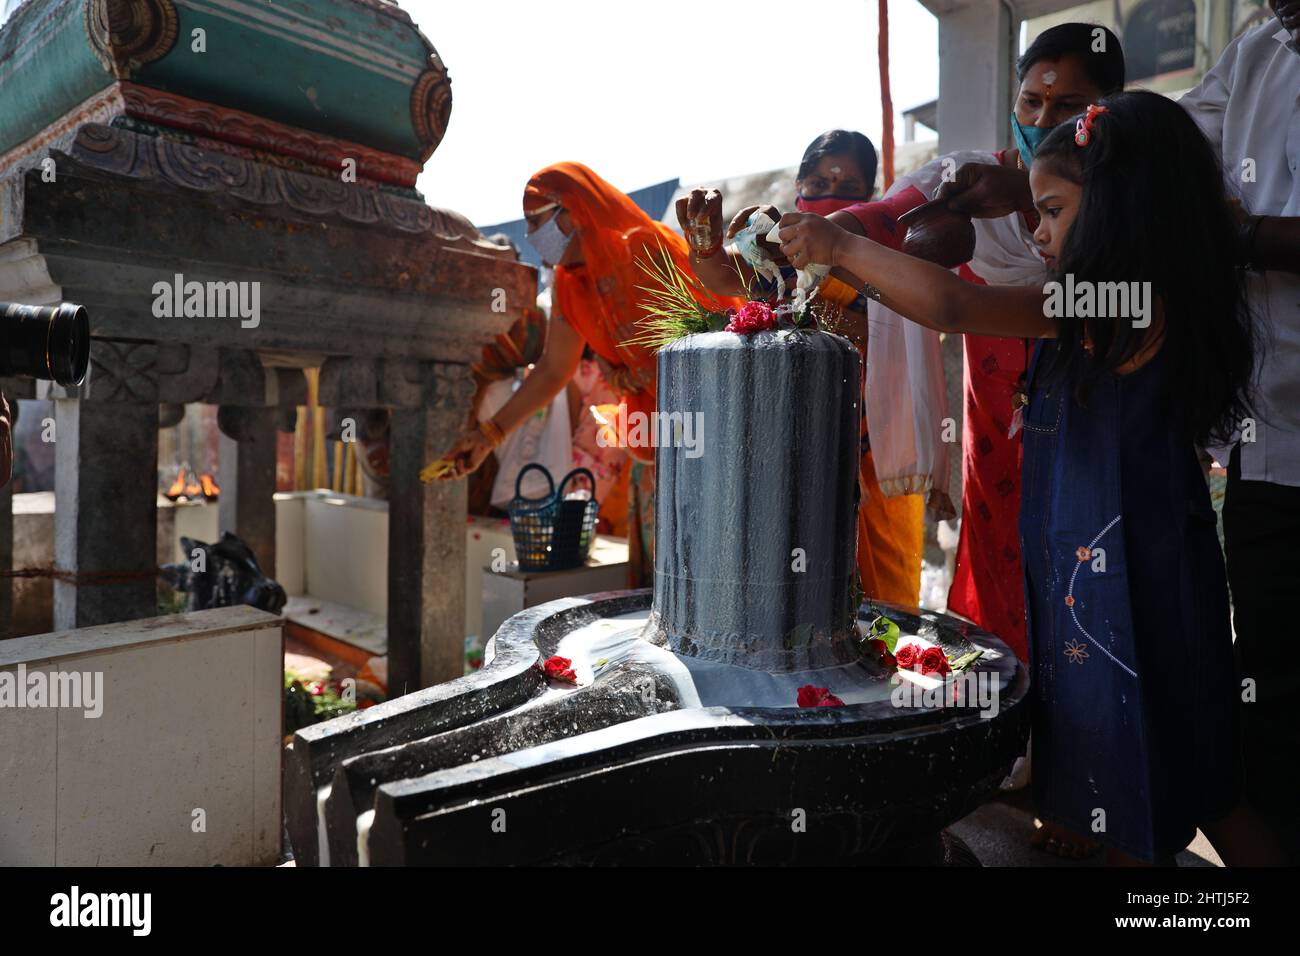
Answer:
<svg viewBox="0 0 1300 956"><path fill-rule="evenodd" d="M98 718L0 706L0 865L273 865L282 661L243 606L0 641L0 682L103 682Z"/></svg>

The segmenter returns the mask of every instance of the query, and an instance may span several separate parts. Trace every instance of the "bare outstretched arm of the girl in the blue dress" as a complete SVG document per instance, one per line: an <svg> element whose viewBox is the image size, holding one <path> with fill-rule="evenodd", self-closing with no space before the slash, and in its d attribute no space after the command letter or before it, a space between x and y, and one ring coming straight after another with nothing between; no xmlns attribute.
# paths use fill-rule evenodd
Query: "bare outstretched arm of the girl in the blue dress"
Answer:
<svg viewBox="0 0 1300 956"><path fill-rule="evenodd" d="M942 267L896 252L805 213L781 216L781 251L796 268L822 263L844 269L880 293L880 302L937 332L1053 338L1041 287L982 286Z"/></svg>

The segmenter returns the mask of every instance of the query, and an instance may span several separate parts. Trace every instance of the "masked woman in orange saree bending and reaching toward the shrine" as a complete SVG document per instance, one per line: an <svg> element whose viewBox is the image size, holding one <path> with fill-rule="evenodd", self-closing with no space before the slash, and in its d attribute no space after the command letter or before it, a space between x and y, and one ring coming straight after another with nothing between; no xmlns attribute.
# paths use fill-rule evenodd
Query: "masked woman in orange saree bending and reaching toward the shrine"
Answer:
<svg viewBox="0 0 1300 956"><path fill-rule="evenodd" d="M452 447L458 475L477 468L511 429L572 380L585 345L618 392L620 415L630 419L644 414L649 420L655 410L654 350L632 342L644 333L638 323L646 317L646 293L638 286L647 278L637 261L667 254L690 272L686 241L580 163L556 163L534 174L524 190L524 217L529 241L555 268L546 349L500 411L469 428ZM640 434L640 429L616 424L607 434ZM629 579L633 587L649 587L654 575L654 447L646 442L629 445L628 451L633 457Z"/></svg>

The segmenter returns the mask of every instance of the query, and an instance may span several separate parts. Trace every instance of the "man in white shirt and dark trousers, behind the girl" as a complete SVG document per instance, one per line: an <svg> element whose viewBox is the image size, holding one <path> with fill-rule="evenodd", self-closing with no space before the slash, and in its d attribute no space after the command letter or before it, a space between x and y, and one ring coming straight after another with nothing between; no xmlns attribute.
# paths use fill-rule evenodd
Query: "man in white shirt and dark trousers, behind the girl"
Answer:
<svg viewBox="0 0 1300 956"><path fill-rule="evenodd" d="M1247 795L1300 861L1300 0L1238 36L1180 101L1242 199L1251 307L1264 329L1256 420L1242 424L1223 503ZM1279 26L1280 23L1280 26ZM1247 693L1253 682L1253 693Z"/></svg>

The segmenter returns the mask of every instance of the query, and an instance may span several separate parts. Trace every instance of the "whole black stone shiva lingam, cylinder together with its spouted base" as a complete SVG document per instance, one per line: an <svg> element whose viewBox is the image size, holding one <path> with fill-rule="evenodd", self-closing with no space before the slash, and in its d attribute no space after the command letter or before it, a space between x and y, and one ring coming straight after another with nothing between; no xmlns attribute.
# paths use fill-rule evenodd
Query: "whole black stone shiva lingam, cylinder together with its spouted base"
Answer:
<svg viewBox="0 0 1300 956"><path fill-rule="evenodd" d="M658 373L653 593L528 609L478 671L298 731L300 865L952 860L1027 679L993 635L857 596L858 352L702 333ZM883 620L900 659L974 659L983 705L900 669Z"/></svg>

